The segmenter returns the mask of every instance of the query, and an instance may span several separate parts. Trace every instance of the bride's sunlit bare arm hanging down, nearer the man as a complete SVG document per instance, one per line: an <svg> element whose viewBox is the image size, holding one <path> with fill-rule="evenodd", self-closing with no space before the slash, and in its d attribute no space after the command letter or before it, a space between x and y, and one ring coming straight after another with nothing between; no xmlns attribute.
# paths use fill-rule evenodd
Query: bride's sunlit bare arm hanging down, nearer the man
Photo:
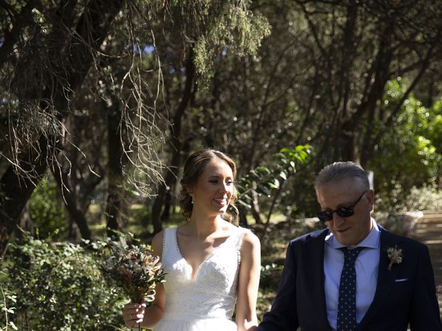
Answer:
<svg viewBox="0 0 442 331"><path fill-rule="evenodd" d="M236 324L238 331L253 331L258 325L256 299L261 270L260 241L255 234L247 232L242 239L241 263L238 276L236 301Z"/></svg>

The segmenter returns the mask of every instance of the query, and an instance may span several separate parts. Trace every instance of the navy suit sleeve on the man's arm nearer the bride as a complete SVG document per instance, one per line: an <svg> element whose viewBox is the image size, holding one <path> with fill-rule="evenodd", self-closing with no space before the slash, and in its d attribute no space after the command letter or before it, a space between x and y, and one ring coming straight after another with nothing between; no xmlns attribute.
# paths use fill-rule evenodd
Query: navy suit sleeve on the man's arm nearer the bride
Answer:
<svg viewBox="0 0 442 331"><path fill-rule="evenodd" d="M258 331L294 331L299 326L296 309L296 254L294 241L287 247L284 268L280 280L278 293L267 312Z"/></svg>

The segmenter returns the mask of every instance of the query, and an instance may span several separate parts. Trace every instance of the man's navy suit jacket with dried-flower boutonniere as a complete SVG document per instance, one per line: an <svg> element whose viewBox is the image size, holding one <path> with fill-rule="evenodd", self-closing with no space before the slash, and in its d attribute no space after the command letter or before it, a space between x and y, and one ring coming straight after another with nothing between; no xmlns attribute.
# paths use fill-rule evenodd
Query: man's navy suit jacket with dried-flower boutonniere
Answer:
<svg viewBox="0 0 442 331"><path fill-rule="evenodd" d="M434 274L427 246L381 230L378 283L372 304L357 331L441 331ZM331 331L324 290L324 245L329 230L305 234L289 243L278 294L259 331ZM402 249L392 265L387 248Z"/></svg>

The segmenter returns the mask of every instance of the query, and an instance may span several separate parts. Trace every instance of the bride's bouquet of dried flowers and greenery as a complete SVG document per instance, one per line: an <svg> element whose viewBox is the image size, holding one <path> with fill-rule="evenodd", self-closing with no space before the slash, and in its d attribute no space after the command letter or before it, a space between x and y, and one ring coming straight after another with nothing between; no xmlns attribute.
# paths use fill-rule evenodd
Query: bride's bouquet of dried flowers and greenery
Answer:
<svg viewBox="0 0 442 331"><path fill-rule="evenodd" d="M160 257L153 255L148 246L128 245L124 239L106 243L108 257L101 270L114 288L122 288L133 303L146 301L148 307L155 299L155 285L164 282L166 275Z"/></svg>

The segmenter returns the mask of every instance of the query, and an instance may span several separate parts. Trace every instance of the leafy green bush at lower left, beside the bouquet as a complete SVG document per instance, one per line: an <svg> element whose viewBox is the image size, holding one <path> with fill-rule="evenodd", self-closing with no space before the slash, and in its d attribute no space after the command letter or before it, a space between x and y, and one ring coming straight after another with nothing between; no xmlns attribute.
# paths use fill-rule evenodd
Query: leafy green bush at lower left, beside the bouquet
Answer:
<svg viewBox="0 0 442 331"><path fill-rule="evenodd" d="M108 288L97 258L73 243L10 243L5 285L17 297L19 330L120 330L124 298Z"/></svg>

